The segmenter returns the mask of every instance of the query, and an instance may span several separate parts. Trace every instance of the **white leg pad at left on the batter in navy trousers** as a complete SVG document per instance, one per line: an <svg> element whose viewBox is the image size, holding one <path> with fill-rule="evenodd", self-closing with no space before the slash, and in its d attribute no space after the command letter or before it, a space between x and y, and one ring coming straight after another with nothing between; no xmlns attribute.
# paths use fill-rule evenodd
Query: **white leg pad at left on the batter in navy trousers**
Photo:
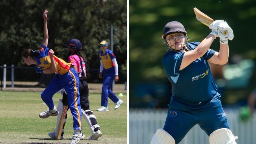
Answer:
<svg viewBox="0 0 256 144"><path fill-rule="evenodd" d="M174 138L163 129L158 129L150 144L175 144Z"/></svg>

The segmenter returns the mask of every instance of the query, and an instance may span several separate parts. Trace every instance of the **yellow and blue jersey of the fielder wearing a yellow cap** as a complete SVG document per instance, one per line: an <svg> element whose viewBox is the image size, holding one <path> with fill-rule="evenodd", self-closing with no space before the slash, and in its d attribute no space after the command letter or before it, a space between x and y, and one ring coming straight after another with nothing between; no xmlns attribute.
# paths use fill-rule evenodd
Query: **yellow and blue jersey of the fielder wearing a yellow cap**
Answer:
<svg viewBox="0 0 256 144"><path fill-rule="evenodd" d="M109 68L112 68L112 67L115 66L115 64L112 61L113 58L115 58L115 55L109 49L106 49L105 54L103 54L102 50L99 52L98 59L102 60L102 63L104 65L104 69L109 69Z"/></svg>

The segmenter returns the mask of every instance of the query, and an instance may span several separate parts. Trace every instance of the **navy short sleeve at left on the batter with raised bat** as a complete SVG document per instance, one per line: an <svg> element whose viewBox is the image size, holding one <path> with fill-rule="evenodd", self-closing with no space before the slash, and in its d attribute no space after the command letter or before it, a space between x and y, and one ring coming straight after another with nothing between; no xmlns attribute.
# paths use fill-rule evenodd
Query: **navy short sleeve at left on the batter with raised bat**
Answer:
<svg viewBox="0 0 256 144"><path fill-rule="evenodd" d="M184 53L167 53L163 57L162 65L165 69L165 72L169 76L177 76L180 74L180 65L182 62L182 58Z"/></svg>

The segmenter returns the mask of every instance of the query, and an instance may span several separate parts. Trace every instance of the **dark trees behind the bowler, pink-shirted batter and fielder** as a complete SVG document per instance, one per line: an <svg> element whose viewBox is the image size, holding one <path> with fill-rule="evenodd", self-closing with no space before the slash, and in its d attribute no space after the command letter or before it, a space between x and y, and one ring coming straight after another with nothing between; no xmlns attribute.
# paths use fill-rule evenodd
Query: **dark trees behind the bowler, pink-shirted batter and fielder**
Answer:
<svg viewBox="0 0 256 144"><path fill-rule="evenodd" d="M37 50L43 40L43 12L48 9L48 47L66 60L70 39L82 42L82 55L89 69L100 66L98 52L102 40L110 42L119 69L127 70L127 0L1 0L0 66L26 66L21 54Z"/></svg>

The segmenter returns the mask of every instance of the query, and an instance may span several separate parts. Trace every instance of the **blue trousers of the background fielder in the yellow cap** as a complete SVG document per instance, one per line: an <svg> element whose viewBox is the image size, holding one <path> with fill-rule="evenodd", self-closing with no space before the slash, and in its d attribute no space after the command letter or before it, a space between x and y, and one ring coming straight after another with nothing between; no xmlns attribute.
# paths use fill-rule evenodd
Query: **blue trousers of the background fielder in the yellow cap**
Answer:
<svg viewBox="0 0 256 144"><path fill-rule="evenodd" d="M119 98L112 92L111 85L115 79L115 67L103 70L103 85L101 92L101 106L108 106L108 97L114 102L118 102Z"/></svg>

